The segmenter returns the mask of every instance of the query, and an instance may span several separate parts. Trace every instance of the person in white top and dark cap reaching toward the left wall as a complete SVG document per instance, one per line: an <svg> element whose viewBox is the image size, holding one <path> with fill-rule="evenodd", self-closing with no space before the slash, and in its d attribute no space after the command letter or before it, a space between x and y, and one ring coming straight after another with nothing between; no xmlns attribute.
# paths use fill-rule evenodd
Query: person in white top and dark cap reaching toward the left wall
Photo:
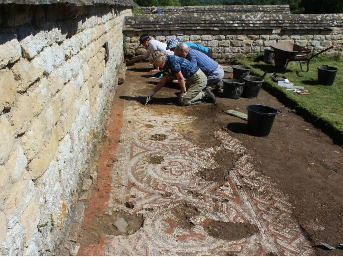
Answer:
<svg viewBox="0 0 343 257"><path fill-rule="evenodd" d="M174 55L173 51L166 49L167 48L166 43L160 42L156 39L150 39L150 36L147 34L143 34L142 36L140 36L139 42L140 42L139 45L143 45L145 47L146 52L140 56L130 59L126 63L130 64L134 62L143 61L149 58L150 54L153 53L155 50L162 50L166 52L166 54L168 55Z"/></svg>

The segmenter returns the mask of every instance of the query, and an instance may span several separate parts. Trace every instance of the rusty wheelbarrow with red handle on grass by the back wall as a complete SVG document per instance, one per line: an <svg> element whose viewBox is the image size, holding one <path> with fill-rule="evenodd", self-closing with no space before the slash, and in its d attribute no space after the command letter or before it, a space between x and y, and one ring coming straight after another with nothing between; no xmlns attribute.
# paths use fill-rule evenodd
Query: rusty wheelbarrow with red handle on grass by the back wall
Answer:
<svg viewBox="0 0 343 257"><path fill-rule="evenodd" d="M334 48L334 46L330 46L311 56L310 49L299 46L291 42L273 43L273 44L270 44L269 46L274 50L274 53L275 53L274 61L275 61L276 66L284 66L285 71L286 71L287 65L289 62L298 61L300 64L301 71L304 71L303 64L307 64L306 72L308 72L309 63L313 58L315 58L316 56L318 56L319 54L325 51L328 51Z"/></svg>

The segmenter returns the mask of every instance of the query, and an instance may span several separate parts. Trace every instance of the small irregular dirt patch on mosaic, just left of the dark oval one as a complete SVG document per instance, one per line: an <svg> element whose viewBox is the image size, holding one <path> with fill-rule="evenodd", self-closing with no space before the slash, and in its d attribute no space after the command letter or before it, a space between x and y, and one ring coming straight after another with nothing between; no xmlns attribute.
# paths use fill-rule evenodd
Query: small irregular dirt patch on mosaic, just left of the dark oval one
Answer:
<svg viewBox="0 0 343 257"><path fill-rule="evenodd" d="M194 224L191 221L191 219L199 215L198 208L187 203L184 203L175 207L171 211L171 213L177 219L176 220L177 227L181 227L183 229L193 228Z"/></svg>

